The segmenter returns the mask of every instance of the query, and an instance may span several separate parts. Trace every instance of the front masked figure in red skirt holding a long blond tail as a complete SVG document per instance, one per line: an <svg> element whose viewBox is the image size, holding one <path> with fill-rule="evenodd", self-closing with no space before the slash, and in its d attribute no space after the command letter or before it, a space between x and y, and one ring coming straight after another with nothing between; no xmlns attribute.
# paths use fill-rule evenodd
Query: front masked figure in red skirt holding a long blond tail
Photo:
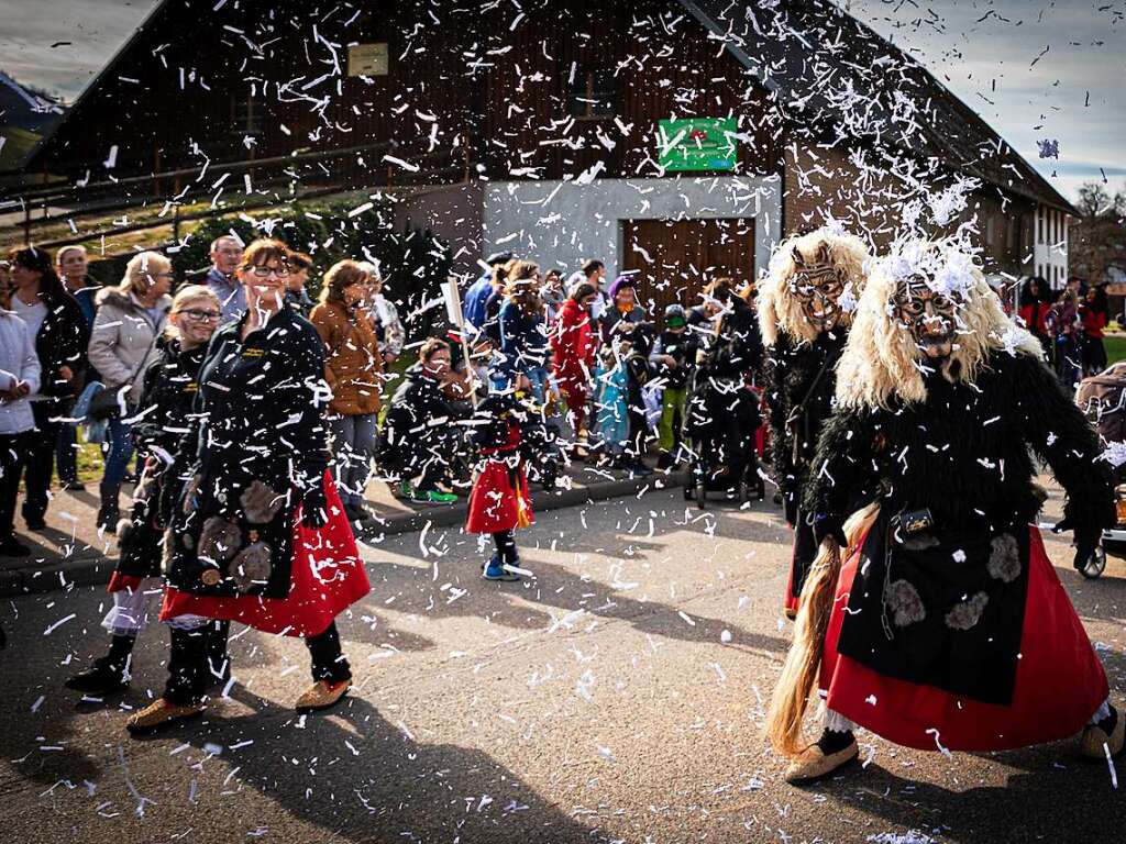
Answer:
<svg viewBox="0 0 1126 844"><path fill-rule="evenodd" d="M854 761L856 726L918 749L1080 731L1085 756L1121 749L1102 665L1035 527L1033 451L1066 491L1056 529L1074 531L1079 565L1114 521L1110 477L1039 342L956 246L879 261L804 502L821 551L768 717L788 781ZM803 747L819 668L824 730Z"/></svg>

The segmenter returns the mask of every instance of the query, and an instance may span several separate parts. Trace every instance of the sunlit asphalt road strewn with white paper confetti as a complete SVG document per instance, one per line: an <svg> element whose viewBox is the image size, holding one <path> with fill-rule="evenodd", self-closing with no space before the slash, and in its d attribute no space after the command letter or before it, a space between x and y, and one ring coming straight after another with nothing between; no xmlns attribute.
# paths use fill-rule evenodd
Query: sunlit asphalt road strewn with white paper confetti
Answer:
<svg viewBox="0 0 1126 844"><path fill-rule="evenodd" d="M456 530L388 539L340 619L345 704L296 716L302 643L240 629L230 697L148 740L124 720L163 683L163 629L123 697L82 703L62 681L105 646L106 594L8 602L0 841L1126 839L1126 764L1116 790L1074 743L948 758L865 734L865 769L783 782L761 737L789 636L776 513L679 491L546 513L520 584L481 581ZM1048 549L1124 697L1126 563L1084 582L1066 539Z"/></svg>

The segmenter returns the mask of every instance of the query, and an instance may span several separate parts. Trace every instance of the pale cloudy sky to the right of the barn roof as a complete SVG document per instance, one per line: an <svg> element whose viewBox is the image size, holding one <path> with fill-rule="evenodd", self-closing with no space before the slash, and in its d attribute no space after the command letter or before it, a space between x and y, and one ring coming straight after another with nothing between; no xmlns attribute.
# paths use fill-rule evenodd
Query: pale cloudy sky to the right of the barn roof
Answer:
<svg viewBox="0 0 1126 844"><path fill-rule="evenodd" d="M1120 10L1027 0L928 0L924 10L854 0L848 8L922 62L1061 191L1099 178L1099 167L1108 178L1126 172ZM1061 161L1038 158L1045 138L1060 141Z"/></svg>

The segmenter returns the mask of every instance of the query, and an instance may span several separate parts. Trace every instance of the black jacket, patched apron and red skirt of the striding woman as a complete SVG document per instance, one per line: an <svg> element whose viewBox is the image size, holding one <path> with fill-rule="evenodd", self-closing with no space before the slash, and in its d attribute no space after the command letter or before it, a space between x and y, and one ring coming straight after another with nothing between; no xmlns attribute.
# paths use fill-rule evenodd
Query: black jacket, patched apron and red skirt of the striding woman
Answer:
<svg viewBox="0 0 1126 844"><path fill-rule="evenodd" d="M197 463L172 511L161 620L315 636L369 589L328 475L324 347L291 308L243 340L247 318L215 333L199 371ZM302 523L303 508L328 522Z"/></svg>

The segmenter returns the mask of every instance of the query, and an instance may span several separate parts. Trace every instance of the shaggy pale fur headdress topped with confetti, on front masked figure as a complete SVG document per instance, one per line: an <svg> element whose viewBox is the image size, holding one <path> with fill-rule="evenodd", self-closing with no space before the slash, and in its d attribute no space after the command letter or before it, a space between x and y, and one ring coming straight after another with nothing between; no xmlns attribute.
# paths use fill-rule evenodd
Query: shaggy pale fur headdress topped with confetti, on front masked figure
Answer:
<svg viewBox="0 0 1126 844"><path fill-rule="evenodd" d="M1043 357L1039 342L1006 315L968 254L949 243L915 241L876 261L868 273L837 368L839 406L887 407L893 397L927 399L915 340L895 316L896 286L913 275L957 303L954 351L941 370L947 380L973 384L993 351Z"/></svg>

